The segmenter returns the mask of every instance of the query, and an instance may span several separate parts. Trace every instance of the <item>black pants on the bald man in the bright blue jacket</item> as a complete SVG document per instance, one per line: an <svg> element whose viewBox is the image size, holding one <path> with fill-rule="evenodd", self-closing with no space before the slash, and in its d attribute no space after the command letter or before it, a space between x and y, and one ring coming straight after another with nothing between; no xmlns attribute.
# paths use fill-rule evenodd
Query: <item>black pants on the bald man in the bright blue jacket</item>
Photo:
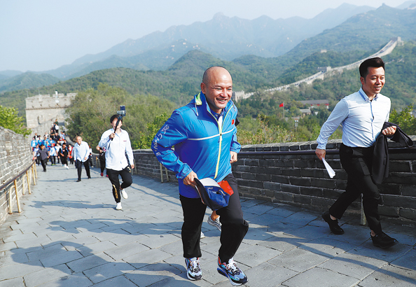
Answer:
<svg viewBox="0 0 416 287"><path fill-rule="evenodd" d="M220 216L220 222L222 224L219 258L221 262L228 262L240 247L242 239L244 239L244 236L249 230L249 223L244 221L243 218L240 196L238 195L237 183L233 174L228 174L224 180L228 181L231 188L233 188L234 194L230 196L228 206L217 210L216 214ZM202 221L204 221L207 206L201 202L200 198L180 196L180 199L183 210L183 257L201 257L201 226Z"/></svg>

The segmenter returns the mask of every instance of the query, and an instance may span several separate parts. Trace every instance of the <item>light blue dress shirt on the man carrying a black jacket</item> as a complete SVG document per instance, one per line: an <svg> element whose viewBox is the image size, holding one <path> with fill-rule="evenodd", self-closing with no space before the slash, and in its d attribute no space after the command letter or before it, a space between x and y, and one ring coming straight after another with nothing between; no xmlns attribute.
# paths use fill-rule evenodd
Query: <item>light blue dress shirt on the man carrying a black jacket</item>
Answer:
<svg viewBox="0 0 416 287"><path fill-rule="evenodd" d="M349 94L338 102L328 120L322 125L317 148L326 148L328 138L339 125L342 125L342 143L345 146L373 146L384 122L389 121L390 106L390 99L382 94L376 94L370 101L362 88L354 94Z"/></svg>

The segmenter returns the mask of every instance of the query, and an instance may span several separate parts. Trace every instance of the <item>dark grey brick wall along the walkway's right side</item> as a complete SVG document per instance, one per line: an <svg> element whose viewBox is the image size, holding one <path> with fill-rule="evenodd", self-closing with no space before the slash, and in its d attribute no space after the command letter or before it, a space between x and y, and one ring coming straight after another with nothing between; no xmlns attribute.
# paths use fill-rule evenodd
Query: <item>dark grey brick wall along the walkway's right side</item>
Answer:
<svg viewBox="0 0 416 287"><path fill-rule="evenodd" d="M416 141L416 136L412 139ZM347 174L337 152L340 143L340 140L333 140L327 146L326 161L336 173L333 179L314 155L316 141L243 146L239 160L233 164L240 195L326 211L345 191L347 184ZM389 148L397 147L389 142ZM286 153L261 154L276 151ZM389 177L379 186L382 193L379 210L383 220L416 223L416 153L412 151L416 149L390 155ZM134 161L135 174L160 180L160 165L151 150L134 151ZM177 182L173 172L168 175L169 181ZM165 169L163 181L166 181ZM360 210L361 201L356 200L346 214L359 216Z"/></svg>

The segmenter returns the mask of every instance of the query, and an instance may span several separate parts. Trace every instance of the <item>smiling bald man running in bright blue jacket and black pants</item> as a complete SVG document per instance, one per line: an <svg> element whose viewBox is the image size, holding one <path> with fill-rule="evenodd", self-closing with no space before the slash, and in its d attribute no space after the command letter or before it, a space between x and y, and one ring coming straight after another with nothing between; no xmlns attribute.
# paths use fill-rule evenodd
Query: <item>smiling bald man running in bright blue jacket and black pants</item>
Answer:
<svg viewBox="0 0 416 287"><path fill-rule="evenodd" d="M158 160L176 173L183 210L182 244L187 276L202 278L199 258L201 225L207 206L195 189L195 179L211 178L228 181L234 194L227 207L216 211L222 224L218 272L237 286L247 282L247 276L237 267L233 256L249 229L244 221L237 183L231 163L237 160L237 108L233 104L233 79L221 66L204 72L201 92L186 106L175 110L152 142ZM172 150L174 146L174 151Z"/></svg>

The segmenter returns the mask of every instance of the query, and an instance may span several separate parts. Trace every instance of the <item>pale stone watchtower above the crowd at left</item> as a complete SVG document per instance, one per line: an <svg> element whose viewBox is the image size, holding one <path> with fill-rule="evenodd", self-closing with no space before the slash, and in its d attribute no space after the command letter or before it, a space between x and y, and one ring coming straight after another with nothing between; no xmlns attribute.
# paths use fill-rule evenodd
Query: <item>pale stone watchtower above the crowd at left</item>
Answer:
<svg viewBox="0 0 416 287"><path fill-rule="evenodd" d="M26 98L26 124L32 133L37 132L39 135L50 130L50 127L57 120L58 125L64 125L65 110L71 105L76 93L67 95L55 92L50 94L38 94L34 97Z"/></svg>

